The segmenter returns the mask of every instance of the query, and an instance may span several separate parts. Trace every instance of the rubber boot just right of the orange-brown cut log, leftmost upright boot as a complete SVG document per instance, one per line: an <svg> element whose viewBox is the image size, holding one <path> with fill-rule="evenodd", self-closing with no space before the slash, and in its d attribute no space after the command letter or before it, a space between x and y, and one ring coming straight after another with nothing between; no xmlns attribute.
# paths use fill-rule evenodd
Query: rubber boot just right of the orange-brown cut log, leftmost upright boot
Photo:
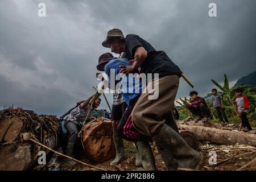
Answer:
<svg viewBox="0 0 256 182"><path fill-rule="evenodd" d="M118 136L114 136L113 140L115 144L115 159L110 163L110 166L114 166L115 164L119 163L122 158L125 157L123 150L123 139Z"/></svg>

